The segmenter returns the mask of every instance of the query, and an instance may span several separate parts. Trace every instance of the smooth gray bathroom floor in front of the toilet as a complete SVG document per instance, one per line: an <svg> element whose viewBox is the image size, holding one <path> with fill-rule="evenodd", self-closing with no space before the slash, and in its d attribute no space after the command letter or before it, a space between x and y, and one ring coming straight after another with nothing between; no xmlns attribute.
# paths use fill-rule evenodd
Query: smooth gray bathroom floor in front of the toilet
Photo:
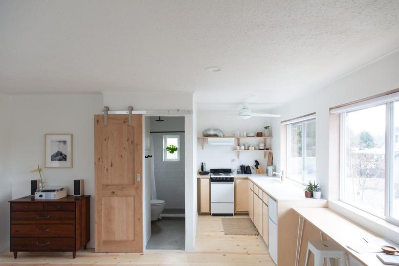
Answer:
<svg viewBox="0 0 399 266"><path fill-rule="evenodd" d="M151 238L146 249L149 250L184 250L184 217L164 217L151 222Z"/></svg>

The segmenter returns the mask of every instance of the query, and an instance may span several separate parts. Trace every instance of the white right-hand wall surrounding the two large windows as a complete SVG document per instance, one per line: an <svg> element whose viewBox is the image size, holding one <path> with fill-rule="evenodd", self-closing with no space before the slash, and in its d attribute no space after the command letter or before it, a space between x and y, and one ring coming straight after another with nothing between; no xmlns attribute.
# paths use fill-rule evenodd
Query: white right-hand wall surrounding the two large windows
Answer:
<svg viewBox="0 0 399 266"><path fill-rule="evenodd" d="M329 198L329 108L399 88L398 70L399 50L396 50L326 84L313 93L304 95L301 99L274 109L273 113L281 114L280 118L272 119L272 134L274 136L272 145L275 151L277 169L280 169L280 122L316 112L316 178L321 186L322 196ZM333 200L336 199L333 198ZM360 224L363 223L362 220L356 221ZM367 224L364 224L364 226L383 236L392 238L392 235L387 234L387 231L381 230L379 227L370 227ZM396 242L399 242L397 233L395 237Z"/></svg>

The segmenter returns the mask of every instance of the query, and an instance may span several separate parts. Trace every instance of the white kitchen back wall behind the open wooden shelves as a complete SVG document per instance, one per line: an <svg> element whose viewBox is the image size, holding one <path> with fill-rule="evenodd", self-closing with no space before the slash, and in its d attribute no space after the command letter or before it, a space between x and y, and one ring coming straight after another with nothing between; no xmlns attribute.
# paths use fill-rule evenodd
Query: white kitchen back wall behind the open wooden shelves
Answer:
<svg viewBox="0 0 399 266"><path fill-rule="evenodd" d="M225 135L234 135L235 130L246 132L263 132L263 127L270 125L270 118L252 117L250 119L239 119L236 115L198 113L197 114L197 135L203 136L202 132L206 128L218 128ZM257 145L263 140L259 139L241 139L241 143ZM201 162L206 163L207 170L211 168L233 168L241 164L254 165L254 160L258 160L263 171L266 170L267 159L263 159L263 152L241 152L240 159L237 159L237 152L233 151L235 146L208 145L205 143L202 149L201 141L197 144L197 162L196 167L201 167ZM271 149L271 141L268 140L267 146ZM235 160L235 162L233 162Z"/></svg>

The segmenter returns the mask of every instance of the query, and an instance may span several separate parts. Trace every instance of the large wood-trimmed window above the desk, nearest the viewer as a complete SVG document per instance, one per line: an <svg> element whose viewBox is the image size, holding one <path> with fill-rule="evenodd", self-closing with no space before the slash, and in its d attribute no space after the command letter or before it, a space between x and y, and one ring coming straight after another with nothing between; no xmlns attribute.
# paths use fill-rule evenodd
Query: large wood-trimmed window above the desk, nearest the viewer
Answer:
<svg viewBox="0 0 399 266"><path fill-rule="evenodd" d="M331 113L341 116L340 201L399 224L399 94Z"/></svg>

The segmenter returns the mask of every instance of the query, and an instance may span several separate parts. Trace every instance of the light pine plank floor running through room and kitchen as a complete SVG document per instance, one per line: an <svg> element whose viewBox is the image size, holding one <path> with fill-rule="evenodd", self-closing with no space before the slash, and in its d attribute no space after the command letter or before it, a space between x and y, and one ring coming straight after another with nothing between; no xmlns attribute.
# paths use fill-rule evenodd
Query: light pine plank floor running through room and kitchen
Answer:
<svg viewBox="0 0 399 266"><path fill-rule="evenodd" d="M246 216L235 216L242 218ZM248 217L248 216L247 216ZM1 265L146 265L146 266L205 266L205 265L262 265L274 266L267 247L260 236L225 235L221 217L198 216L195 252L147 250L145 254L94 253L94 249L80 250L76 258L68 253L20 252L0 255Z"/></svg>

